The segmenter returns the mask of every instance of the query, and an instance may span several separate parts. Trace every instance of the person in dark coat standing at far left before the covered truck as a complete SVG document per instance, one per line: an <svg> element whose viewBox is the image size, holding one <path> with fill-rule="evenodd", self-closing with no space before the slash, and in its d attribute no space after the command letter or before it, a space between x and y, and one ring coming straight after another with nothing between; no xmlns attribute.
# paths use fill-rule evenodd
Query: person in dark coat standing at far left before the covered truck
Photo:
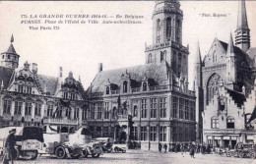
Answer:
<svg viewBox="0 0 256 164"><path fill-rule="evenodd" d="M16 129L13 129L9 131L9 136L6 138L5 141L5 154L3 158L3 164L9 164L9 161L12 161L12 164L14 163L14 156L15 154L15 134L16 134Z"/></svg>

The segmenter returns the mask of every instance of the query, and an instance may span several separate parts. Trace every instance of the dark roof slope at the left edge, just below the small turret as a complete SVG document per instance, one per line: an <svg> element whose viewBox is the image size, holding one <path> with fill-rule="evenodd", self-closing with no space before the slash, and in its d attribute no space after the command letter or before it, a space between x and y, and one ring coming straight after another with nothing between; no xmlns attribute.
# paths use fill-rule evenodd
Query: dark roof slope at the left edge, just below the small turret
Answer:
<svg viewBox="0 0 256 164"><path fill-rule="evenodd" d="M14 73L14 69L0 66L0 86L2 85L2 82L3 82L4 84L3 88L6 89L12 78L13 73Z"/></svg>

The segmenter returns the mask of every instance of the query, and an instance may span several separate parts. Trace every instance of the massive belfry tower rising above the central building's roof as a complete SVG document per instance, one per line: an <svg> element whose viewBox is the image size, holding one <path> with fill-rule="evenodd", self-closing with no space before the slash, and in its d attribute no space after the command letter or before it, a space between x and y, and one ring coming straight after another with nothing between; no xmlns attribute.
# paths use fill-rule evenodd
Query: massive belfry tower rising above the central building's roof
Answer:
<svg viewBox="0 0 256 164"><path fill-rule="evenodd" d="M157 1L152 20L153 45L146 45L146 64L166 62L177 78L188 77L189 52L182 45L183 12L179 1Z"/></svg>

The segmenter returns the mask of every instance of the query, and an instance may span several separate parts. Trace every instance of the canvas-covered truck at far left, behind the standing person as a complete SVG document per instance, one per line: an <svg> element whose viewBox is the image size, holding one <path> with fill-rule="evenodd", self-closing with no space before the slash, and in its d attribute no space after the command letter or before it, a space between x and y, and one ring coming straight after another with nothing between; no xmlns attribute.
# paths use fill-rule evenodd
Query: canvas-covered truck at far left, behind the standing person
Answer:
<svg viewBox="0 0 256 164"><path fill-rule="evenodd" d="M16 152L14 159L36 159L38 150L43 147L42 129L38 127L7 127L0 129L0 154L3 154L6 138L9 131L16 129Z"/></svg>

